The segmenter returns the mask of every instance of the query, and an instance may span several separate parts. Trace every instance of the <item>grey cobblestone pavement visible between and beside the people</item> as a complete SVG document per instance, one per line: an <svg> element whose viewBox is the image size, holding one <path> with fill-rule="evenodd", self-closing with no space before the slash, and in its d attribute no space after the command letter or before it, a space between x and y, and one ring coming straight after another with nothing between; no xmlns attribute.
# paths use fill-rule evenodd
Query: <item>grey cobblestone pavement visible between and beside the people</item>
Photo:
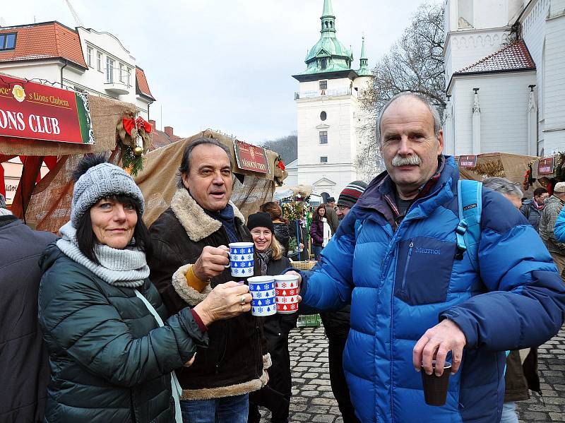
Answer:
<svg viewBox="0 0 565 423"><path fill-rule="evenodd" d="M292 365L291 422L343 423L333 398L328 370L328 340L323 328L297 328L289 339ZM518 403L521 423L565 422L565 326L540 347L539 369L543 394ZM545 405L544 405L545 402ZM261 423L270 422L262 410Z"/></svg>

